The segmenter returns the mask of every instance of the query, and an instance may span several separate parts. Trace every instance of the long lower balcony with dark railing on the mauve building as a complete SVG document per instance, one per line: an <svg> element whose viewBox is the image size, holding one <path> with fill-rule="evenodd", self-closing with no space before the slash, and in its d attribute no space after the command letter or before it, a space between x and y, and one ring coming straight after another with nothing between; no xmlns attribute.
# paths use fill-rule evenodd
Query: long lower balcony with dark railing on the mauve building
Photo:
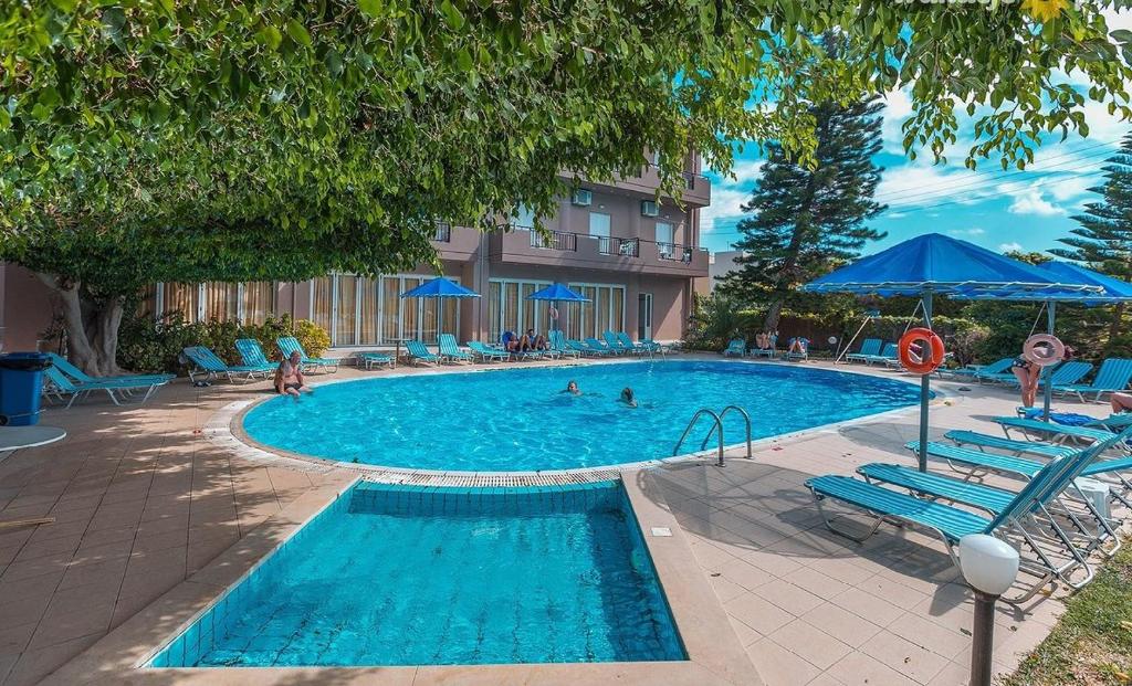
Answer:
<svg viewBox="0 0 1132 686"><path fill-rule="evenodd" d="M694 246L568 231L514 228L490 237L492 261L670 276L706 276L707 251Z"/></svg>

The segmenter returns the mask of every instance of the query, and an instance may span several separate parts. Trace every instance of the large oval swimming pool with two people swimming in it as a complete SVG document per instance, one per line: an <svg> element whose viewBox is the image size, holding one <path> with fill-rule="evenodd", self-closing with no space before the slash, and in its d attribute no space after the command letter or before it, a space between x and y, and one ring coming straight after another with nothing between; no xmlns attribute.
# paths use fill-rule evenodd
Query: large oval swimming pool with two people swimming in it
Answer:
<svg viewBox="0 0 1132 686"><path fill-rule="evenodd" d="M561 391L577 381L582 395ZM634 389L640 406L617 402ZM904 381L786 363L634 361L331 384L254 408L243 429L293 453L443 471L539 471L671 456L700 408L736 404L765 438L914 404ZM704 420L685 451L698 449ZM727 441L743 441L729 421Z"/></svg>

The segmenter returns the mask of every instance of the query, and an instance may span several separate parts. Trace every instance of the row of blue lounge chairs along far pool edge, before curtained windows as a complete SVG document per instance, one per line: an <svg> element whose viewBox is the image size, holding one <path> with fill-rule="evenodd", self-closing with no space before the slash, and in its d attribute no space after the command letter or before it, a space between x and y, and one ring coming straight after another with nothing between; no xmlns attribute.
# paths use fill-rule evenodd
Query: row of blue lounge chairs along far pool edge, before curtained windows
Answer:
<svg viewBox="0 0 1132 686"><path fill-rule="evenodd" d="M440 334L437 338L436 352L429 350L420 341L409 341L405 344L410 361L414 365L441 365L452 362L505 362L508 360L537 360L581 357L614 357L625 354L664 354L664 349L655 341L634 342L625 332L607 331L602 335L604 342L594 337L581 341L566 338L560 331L548 335L544 350L514 351L503 345L488 345L479 341L469 341L466 350L461 349L452 334Z"/></svg>

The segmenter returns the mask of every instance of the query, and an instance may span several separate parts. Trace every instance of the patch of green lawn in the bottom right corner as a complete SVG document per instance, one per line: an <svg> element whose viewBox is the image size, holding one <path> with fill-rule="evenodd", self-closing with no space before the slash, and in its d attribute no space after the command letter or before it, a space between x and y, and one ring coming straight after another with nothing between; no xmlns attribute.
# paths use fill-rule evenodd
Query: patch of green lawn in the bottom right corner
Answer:
<svg viewBox="0 0 1132 686"><path fill-rule="evenodd" d="M1066 602L1067 610L1005 686L1132 681L1132 541Z"/></svg>

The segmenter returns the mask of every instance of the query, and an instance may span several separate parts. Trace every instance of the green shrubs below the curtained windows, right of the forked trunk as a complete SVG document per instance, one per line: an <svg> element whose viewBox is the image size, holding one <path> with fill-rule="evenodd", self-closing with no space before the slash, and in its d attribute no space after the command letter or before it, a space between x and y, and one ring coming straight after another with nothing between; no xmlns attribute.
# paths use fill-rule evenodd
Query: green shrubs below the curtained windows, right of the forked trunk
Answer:
<svg viewBox="0 0 1132 686"><path fill-rule="evenodd" d="M269 316L263 324L216 320L189 324L177 311L168 314L162 321L154 321L153 315L144 314L123 319L119 329L118 363L136 371L182 374L181 350L204 345L229 365L239 365L237 338L259 341L264 354L269 360L277 360L275 340L292 335L311 357L321 354L331 345L331 336L323 327L306 319L293 320L290 315Z"/></svg>

